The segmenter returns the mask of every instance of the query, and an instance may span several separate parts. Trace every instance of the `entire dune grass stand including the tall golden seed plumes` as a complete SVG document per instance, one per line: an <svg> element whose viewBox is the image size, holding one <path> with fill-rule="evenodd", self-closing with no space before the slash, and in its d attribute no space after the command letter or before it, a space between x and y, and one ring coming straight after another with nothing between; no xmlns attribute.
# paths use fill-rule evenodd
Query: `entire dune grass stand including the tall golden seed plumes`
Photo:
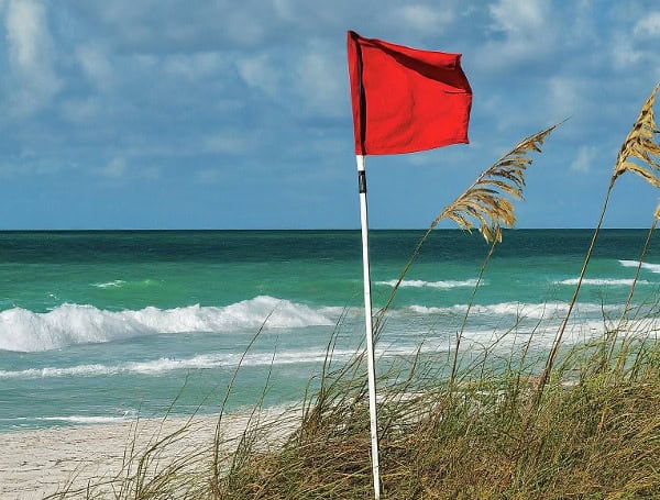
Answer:
<svg viewBox="0 0 660 500"><path fill-rule="evenodd" d="M578 290L550 353L535 344L544 330L541 319L537 329L525 332L524 342L513 343L510 352L498 343L515 337L516 325L496 332L481 347L471 345L468 362L458 363L465 318L457 335L453 359L420 348L410 358L397 358L381 367L383 498L660 498L660 301L656 299L646 315L630 322L635 279L617 327L626 325L630 333L625 348L618 344L613 349L610 335L604 335L566 346L558 356L615 180L632 171L660 187L653 171L659 153L652 141L658 132L652 119L656 90L622 147ZM398 282L442 219L453 220L468 231L479 227L491 243L481 280L494 245L502 237L501 229L515 221L513 204L505 196L521 196L524 173L530 163L526 154L540 151L553 129L520 143L441 212ZM646 162L646 166L639 162ZM659 215L657 211L640 262ZM380 312L378 327L384 324L397 288ZM332 359L341 327L340 321L328 342L326 362L315 381L318 389L310 389L294 412L262 418L258 401L244 431L233 441L223 434L221 415L209 446L177 457L174 468L143 458L157 456L182 434L167 435L144 454L131 454L133 463L145 466L128 469L140 471L138 477L145 478L153 488L114 489L119 493L105 496L90 486L79 493L82 498L127 500L373 498L366 368L361 353L344 364ZM608 356L616 356L616 363L603 363ZM230 391L231 386L227 397ZM130 484L135 477L131 474L125 481ZM63 493L62 498L68 497Z"/></svg>

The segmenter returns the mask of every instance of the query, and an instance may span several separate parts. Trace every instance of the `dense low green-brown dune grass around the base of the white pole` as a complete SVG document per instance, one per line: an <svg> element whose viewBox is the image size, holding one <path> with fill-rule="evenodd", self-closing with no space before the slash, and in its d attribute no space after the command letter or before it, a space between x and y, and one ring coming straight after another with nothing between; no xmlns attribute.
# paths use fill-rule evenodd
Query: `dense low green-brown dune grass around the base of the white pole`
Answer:
<svg viewBox="0 0 660 500"><path fill-rule="evenodd" d="M603 367L601 341L562 353L530 409L538 364L482 362L460 381L435 362L382 379L384 498L660 497L660 345L628 338ZM217 498L372 498L361 369L326 376L322 397L276 451L253 451ZM536 375L535 375L536 374ZM530 410L531 419L528 418Z"/></svg>

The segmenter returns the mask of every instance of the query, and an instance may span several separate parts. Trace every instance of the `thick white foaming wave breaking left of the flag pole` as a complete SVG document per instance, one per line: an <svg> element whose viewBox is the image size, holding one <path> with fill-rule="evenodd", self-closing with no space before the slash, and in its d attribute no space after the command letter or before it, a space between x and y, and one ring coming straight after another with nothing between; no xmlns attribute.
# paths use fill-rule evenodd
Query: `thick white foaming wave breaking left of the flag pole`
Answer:
<svg viewBox="0 0 660 500"><path fill-rule="evenodd" d="M50 351L156 333L256 332L262 325L332 325L334 313L333 308L312 309L267 296L227 307L197 304L165 310L147 307L139 311L107 311L70 303L43 313L13 308L0 312L0 349Z"/></svg>

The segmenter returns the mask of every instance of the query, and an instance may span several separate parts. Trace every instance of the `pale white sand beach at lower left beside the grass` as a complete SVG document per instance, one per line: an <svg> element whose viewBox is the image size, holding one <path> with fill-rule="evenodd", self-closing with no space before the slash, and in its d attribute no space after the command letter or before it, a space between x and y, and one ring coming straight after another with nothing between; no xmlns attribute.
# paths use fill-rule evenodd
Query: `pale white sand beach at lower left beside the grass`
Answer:
<svg viewBox="0 0 660 500"><path fill-rule="evenodd" d="M266 420L279 419L285 410L273 410L265 414ZM271 429L267 443L276 444L293 430L295 412L287 410L287 424ZM262 416L262 421L264 420ZM279 420L278 420L279 421ZM245 414L227 415L222 420L222 434L226 447L240 436L249 422ZM196 418L177 438L163 448L158 455L160 468L167 466L176 457L202 452L202 462L211 467L211 445L216 431L216 418ZM88 482L110 481L125 475L124 454L134 456L157 441L180 430L185 420L169 419L165 422L142 420L120 424L81 425L35 431L1 433L0 441L0 500L41 500L48 495L62 491L85 489ZM277 431L277 432L273 432ZM272 438L271 438L272 437ZM133 462L133 471L136 462ZM106 488L111 488L107 486ZM111 491L111 490L110 490ZM67 497L75 498L75 497ZM78 498L85 498L81 492Z"/></svg>

